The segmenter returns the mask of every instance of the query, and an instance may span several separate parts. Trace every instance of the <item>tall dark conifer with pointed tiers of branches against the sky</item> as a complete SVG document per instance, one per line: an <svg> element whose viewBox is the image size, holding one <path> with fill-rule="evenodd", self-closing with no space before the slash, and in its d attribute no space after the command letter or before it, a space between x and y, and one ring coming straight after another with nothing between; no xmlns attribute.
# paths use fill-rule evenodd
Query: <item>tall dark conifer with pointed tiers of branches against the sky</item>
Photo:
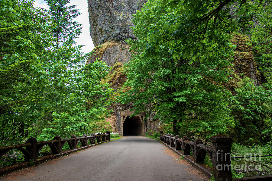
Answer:
<svg viewBox="0 0 272 181"><path fill-rule="evenodd" d="M81 33L81 24L74 21L74 18L81 13L75 9L76 5L67 6L69 0L47 0L50 15L50 32L52 33L52 54L47 57L48 72L50 72L50 83L54 85L51 89L51 102L42 112L42 119L53 120L53 112L59 114L66 110L64 103L70 96L69 86L83 61L87 58L81 51L84 45L75 45L75 39ZM57 111L56 111L57 110ZM55 114L56 115L56 114Z"/></svg>

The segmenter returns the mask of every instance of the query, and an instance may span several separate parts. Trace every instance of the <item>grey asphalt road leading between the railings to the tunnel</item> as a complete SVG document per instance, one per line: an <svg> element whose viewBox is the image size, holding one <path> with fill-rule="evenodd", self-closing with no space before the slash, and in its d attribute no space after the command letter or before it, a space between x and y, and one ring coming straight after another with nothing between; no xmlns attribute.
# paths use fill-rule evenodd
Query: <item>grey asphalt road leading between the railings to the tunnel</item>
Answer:
<svg viewBox="0 0 272 181"><path fill-rule="evenodd" d="M177 159L177 160L176 160ZM69 156L23 169L0 180L208 181L157 140L125 136Z"/></svg>

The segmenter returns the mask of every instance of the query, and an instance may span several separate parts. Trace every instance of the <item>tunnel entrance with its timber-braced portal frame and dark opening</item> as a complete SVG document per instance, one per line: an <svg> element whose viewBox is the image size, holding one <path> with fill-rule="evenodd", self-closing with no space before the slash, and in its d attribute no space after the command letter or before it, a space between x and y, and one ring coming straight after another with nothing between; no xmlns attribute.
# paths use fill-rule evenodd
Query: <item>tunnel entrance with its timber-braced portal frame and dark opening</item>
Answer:
<svg viewBox="0 0 272 181"><path fill-rule="evenodd" d="M145 135L145 122L144 113L141 112L139 115L130 117L134 112L131 111L121 111L121 135Z"/></svg>

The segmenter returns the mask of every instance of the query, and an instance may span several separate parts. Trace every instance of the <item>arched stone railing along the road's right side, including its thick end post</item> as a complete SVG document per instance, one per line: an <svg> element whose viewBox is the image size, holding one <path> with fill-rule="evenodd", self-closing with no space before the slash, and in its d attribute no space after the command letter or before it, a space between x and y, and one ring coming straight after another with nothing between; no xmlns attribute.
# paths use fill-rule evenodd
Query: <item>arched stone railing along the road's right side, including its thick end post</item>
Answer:
<svg viewBox="0 0 272 181"><path fill-rule="evenodd" d="M166 134L160 131L160 141L169 145L176 151L181 151L184 156L190 155L192 151L193 161L195 163L204 163L206 154L212 162L212 176L215 180L232 180L231 170L231 142L232 138L225 135L215 135L210 138L212 145L204 145L202 140L196 138L193 141L187 136L181 137L179 135ZM218 166L220 169L218 169Z"/></svg>

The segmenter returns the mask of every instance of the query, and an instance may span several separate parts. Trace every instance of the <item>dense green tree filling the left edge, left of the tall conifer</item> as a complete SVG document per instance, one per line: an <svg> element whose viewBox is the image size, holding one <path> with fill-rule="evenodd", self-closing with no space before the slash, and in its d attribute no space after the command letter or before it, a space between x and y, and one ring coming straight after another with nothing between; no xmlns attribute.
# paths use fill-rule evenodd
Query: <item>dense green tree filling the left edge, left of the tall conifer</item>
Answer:
<svg viewBox="0 0 272 181"><path fill-rule="evenodd" d="M34 110L46 102L47 79L45 57L51 45L49 17L33 2L0 2L0 124L1 139L20 136L31 120L39 115ZM51 87L52 88L52 87Z"/></svg>

